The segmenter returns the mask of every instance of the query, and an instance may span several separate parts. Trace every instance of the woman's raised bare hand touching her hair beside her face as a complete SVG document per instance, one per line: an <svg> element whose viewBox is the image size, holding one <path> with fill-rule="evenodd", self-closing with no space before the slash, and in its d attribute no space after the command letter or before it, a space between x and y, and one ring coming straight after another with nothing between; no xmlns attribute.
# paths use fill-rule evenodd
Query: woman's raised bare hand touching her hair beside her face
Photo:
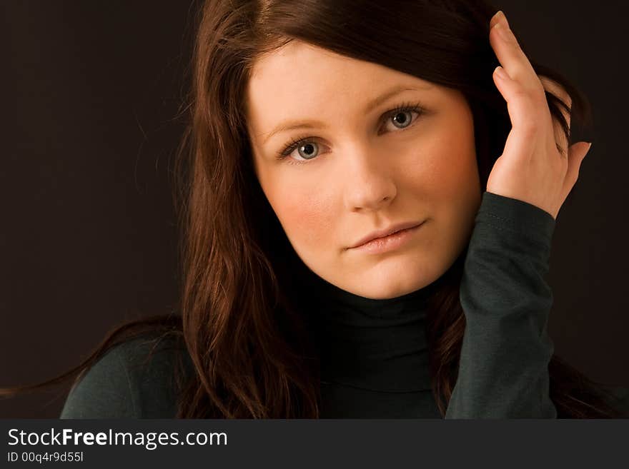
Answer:
<svg viewBox="0 0 629 469"><path fill-rule="evenodd" d="M560 139L562 148L568 142L550 114L544 84L502 11L492 17L490 27L490 43L502 65L494 71L494 82L507 101L512 128L487 180L487 192L531 203L556 219L591 143L574 143L567 154L558 150ZM547 88L552 84L546 81Z"/></svg>

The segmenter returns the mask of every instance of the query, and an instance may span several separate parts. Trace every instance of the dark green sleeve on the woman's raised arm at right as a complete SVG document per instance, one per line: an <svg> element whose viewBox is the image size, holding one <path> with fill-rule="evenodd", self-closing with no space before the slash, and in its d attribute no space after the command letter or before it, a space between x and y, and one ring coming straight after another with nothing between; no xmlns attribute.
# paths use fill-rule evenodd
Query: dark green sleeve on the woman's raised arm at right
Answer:
<svg viewBox="0 0 629 469"><path fill-rule="evenodd" d="M460 286L465 333L445 418L557 418L545 281L554 228L541 208L483 193Z"/></svg>

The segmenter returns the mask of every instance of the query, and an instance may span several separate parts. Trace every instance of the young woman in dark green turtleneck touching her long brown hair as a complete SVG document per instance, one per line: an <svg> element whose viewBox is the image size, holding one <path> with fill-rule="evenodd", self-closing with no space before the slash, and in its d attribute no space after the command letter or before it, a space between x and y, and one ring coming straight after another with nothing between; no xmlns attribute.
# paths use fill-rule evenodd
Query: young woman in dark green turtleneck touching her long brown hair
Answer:
<svg viewBox="0 0 629 469"><path fill-rule="evenodd" d="M51 380L62 418L626 415L547 333L587 101L504 14L207 1L190 109L180 314Z"/></svg>

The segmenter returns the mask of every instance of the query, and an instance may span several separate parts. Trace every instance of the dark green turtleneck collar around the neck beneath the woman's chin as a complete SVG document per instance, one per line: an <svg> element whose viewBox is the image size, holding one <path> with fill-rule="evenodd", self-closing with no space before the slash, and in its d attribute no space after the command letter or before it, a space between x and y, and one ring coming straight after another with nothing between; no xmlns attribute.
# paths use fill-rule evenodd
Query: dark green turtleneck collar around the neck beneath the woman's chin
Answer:
<svg viewBox="0 0 629 469"><path fill-rule="evenodd" d="M437 288L396 298L355 295L310 273L309 328L322 383L387 392L430 390L426 316Z"/></svg>

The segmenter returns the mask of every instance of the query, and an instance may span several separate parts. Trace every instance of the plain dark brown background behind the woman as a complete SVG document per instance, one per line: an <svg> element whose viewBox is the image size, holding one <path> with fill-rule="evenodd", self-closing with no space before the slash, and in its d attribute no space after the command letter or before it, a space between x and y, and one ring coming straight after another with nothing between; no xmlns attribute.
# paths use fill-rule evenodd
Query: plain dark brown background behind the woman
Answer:
<svg viewBox="0 0 629 469"><path fill-rule="evenodd" d="M611 3L495 2L593 102L553 238L549 330L590 378L629 387L628 11ZM168 173L197 4L0 3L0 385L51 378L121 321L174 308ZM0 400L0 417L57 417L66 391Z"/></svg>

